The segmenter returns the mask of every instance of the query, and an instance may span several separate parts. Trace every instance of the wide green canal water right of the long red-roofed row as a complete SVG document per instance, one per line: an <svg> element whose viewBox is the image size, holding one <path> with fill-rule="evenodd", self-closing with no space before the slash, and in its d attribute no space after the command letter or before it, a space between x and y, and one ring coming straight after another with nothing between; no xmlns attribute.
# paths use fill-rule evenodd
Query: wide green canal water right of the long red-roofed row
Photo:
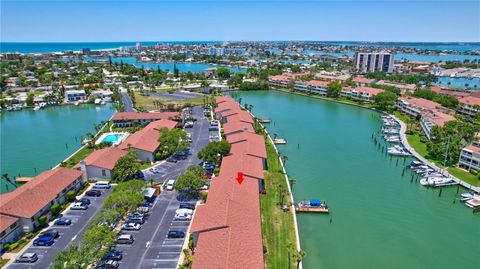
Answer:
<svg viewBox="0 0 480 269"><path fill-rule="evenodd" d="M478 264L480 214L457 187L426 189L404 159L375 145L376 112L282 92L240 92L288 156L297 201L325 200L330 215L298 214L304 268L470 268ZM408 163L410 160L406 160ZM398 162L398 164L397 164ZM460 193L463 190L460 189Z"/></svg>

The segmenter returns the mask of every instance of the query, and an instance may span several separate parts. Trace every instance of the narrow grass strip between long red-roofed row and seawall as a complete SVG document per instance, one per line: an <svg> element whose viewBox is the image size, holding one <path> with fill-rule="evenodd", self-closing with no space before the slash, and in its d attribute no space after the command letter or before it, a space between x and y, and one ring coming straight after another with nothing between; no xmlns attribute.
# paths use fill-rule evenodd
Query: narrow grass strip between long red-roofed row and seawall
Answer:
<svg viewBox="0 0 480 269"><path fill-rule="evenodd" d="M288 186L278 155L273 145L267 140L267 164L265 172L266 194L260 198L262 216L263 244L266 250L267 268L296 268L295 258L295 224L292 212L280 207L281 195L289 199ZM292 250L293 247L293 250ZM290 267L288 265L290 255Z"/></svg>

